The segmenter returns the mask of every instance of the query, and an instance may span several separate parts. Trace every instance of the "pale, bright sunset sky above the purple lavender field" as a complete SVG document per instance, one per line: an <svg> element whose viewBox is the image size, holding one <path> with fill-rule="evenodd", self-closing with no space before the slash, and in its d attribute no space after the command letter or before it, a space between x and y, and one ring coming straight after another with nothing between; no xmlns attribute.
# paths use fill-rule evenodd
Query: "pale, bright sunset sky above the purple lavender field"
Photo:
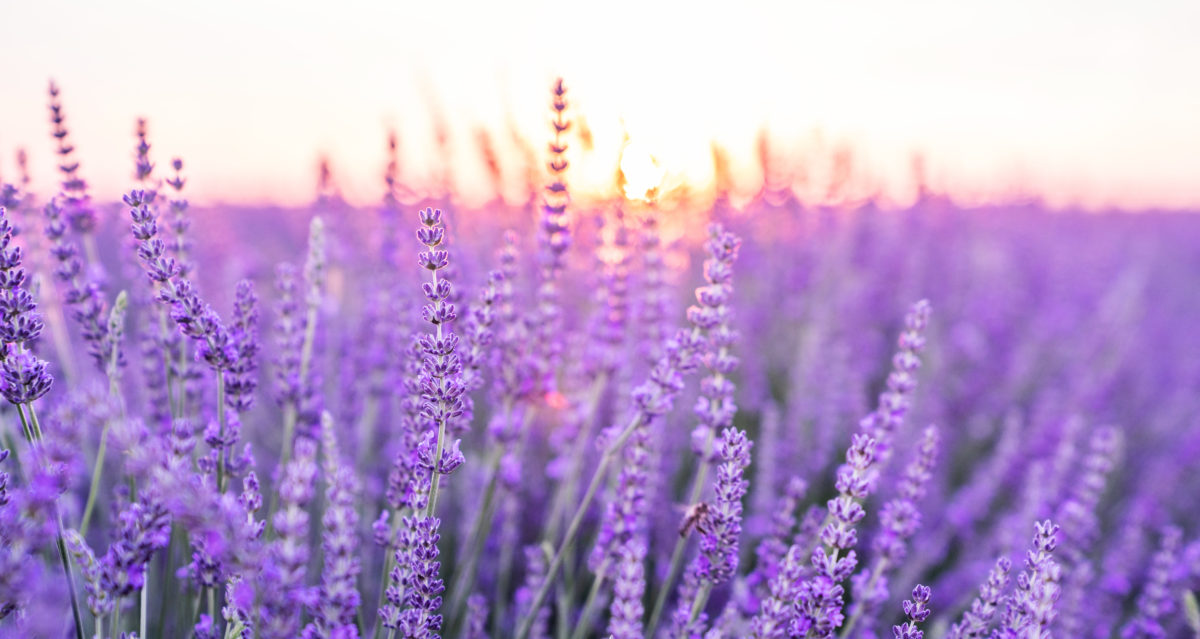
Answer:
<svg viewBox="0 0 1200 639"><path fill-rule="evenodd" d="M805 199L902 205L922 181L968 203L1200 208L1198 28L1195 0L4 1L0 179L25 148L54 189L54 78L100 199L133 183L138 117L202 203L311 202L322 156L348 201L378 202L390 130L415 191L449 175L491 197L486 135L517 198L562 76L580 193L612 190L626 143L667 185L712 190L716 144L749 197L766 139L773 185Z"/></svg>

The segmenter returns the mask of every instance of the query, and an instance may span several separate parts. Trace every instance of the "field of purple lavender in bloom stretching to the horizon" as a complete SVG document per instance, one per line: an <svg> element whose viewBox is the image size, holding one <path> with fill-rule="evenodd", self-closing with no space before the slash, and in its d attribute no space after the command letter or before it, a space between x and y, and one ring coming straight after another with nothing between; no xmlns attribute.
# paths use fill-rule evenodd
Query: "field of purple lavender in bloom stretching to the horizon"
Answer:
<svg viewBox="0 0 1200 639"><path fill-rule="evenodd" d="M68 97L0 209L2 637L1200 637L1200 216L572 198L562 83L524 205L190 207Z"/></svg>

